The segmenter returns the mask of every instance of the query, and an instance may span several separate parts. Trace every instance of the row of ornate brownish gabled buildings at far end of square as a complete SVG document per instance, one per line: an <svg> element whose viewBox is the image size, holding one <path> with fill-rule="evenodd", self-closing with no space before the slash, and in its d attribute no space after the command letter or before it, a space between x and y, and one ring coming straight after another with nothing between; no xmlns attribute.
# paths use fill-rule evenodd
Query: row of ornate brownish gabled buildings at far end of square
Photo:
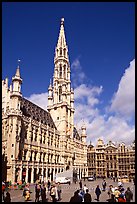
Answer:
<svg viewBox="0 0 137 204"><path fill-rule="evenodd" d="M124 143L116 146L98 139L96 147L88 146L88 175L97 177L135 176L135 148Z"/></svg>

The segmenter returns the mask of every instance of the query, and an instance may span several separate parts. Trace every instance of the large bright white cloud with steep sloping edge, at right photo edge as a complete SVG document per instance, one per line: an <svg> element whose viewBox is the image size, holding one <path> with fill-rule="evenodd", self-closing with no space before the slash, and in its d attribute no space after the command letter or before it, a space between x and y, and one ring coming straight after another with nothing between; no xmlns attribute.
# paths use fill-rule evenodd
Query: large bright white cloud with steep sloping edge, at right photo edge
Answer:
<svg viewBox="0 0 137 204"><path fill-rule="evenodd" d="M132 117L135 113L135 60L130 62L120 80L118 90L114 94L110 111L124 117Z"/></svg>

